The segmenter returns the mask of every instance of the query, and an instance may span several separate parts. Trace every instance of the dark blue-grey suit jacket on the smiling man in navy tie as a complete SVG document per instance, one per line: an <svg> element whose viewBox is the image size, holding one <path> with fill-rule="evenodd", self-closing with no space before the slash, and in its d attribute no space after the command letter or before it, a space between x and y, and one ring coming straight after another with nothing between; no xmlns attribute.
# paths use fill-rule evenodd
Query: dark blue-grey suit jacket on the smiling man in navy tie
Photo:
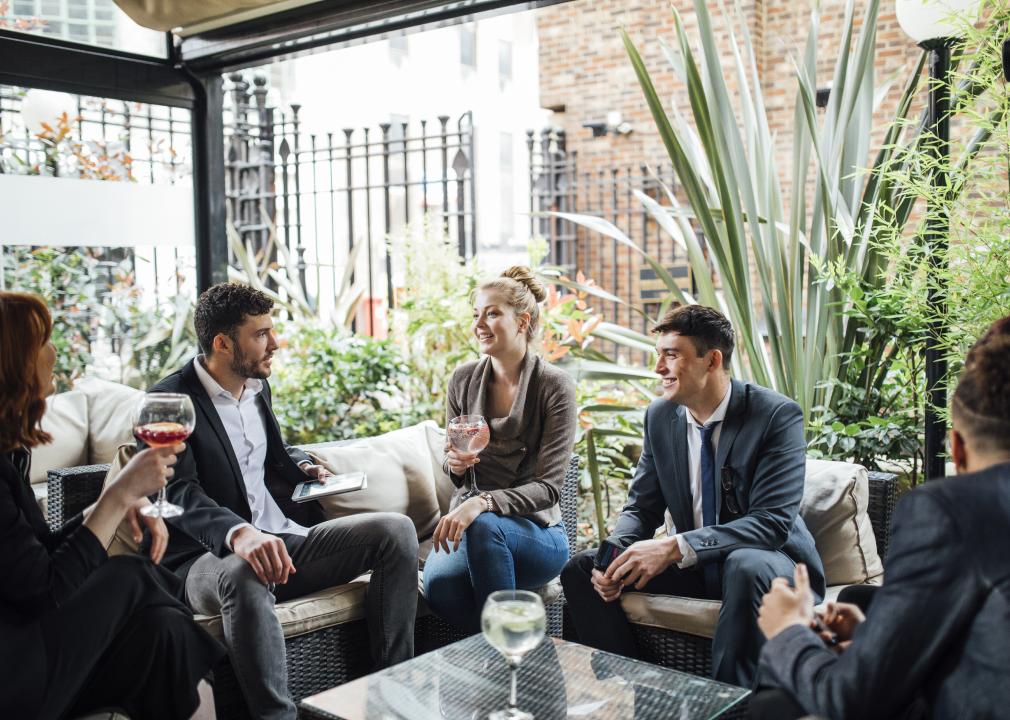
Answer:
<svg viewBox="0 0 1010 720"><path fill-rule="evenodd" d="M698 554L698 567L744 547L782 550L807 563L813 589L823 597L824 568L798 514L806 472L803 412L759 385L734 380L732 386L715 455L717 524L695 527L687 409L661 398L645 411L641 458L613 536L625 545L650 538L670 510L677 531ZM724 502L723 476L731 478L739 514Z"/></svg>

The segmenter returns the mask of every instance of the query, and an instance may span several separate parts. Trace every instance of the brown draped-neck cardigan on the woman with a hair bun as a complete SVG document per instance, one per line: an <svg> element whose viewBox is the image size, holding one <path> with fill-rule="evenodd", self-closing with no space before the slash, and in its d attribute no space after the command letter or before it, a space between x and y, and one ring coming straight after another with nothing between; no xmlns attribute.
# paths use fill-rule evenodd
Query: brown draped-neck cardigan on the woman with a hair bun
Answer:
<svg viewBox="0 0 1010 720"><path fill-rule="evenodd" d="M565 474L575 445L575 383L564 371L532 350L526 352L519 390L508 417L485 412L494 372L491 358L465 363L452 372L445 421L458 415L484 415L491 441L475 466L478 492L488 492L502 515L524 515L541 527L562 521ZM473 489L466 476L450 475L457 491L450 507Z"/></svg>

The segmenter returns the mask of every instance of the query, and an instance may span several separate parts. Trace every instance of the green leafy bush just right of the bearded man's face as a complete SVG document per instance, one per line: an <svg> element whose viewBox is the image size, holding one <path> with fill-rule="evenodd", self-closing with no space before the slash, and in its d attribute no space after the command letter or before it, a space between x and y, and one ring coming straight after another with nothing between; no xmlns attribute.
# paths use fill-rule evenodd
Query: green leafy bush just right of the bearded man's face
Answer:
<svg viewBox="0 0 1010 720"><path fill-rule="evenodd" d="M388 340L320 323L280 327L287 351L274 380L274 411L290 443L378 435L423 419L404 403L410 368Z"/></svg>

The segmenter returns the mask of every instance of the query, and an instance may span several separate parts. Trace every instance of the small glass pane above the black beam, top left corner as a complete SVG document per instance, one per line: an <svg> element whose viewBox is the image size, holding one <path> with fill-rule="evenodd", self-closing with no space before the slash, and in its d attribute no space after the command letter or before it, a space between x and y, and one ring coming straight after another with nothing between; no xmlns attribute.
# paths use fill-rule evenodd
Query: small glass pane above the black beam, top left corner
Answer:
<svg viewBox="0 0 1010 720"><path fill-rule="evenodd" d="M168 50L164 32L140 27L113 0L15 0L5 19L21 32L156 58L165 58Z"/></svg>

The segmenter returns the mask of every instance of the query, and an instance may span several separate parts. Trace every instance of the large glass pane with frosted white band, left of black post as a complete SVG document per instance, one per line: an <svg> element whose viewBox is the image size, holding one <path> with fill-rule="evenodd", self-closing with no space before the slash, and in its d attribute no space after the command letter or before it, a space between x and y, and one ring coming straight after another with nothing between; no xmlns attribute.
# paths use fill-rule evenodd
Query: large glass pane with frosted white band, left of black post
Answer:
<svg viewBox="0 0 1010 720"><path fill-rule="evenodd" d="M0 273L53 312L61 391L146 387L196 351L192 323L140 342L195 297L190 131L179 108L0 85Z"/></svg>

